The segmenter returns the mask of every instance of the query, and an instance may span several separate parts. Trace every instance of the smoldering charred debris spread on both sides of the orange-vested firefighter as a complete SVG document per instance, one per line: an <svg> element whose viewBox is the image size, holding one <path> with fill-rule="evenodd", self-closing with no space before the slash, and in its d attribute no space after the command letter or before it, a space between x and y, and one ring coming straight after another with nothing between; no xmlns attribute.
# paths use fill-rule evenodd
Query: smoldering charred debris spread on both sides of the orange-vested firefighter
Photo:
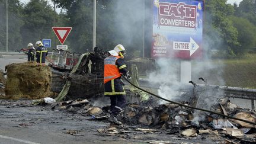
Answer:
<svg viewBox="0 0 256 144"><path fill-rule="evenodd" d="M101 135L121 136L130 138L138 133L162 133L185 139L207 139L214 142L255 142L256 126L238 120L225 119L216 114L199 113L190 108L177 104L161 104L158 100L150 98L148 101L128 104L121 113L119 120L123 126L98 129ZM91 120L107 122L110 105L95 106L93 100L70 100L56 103L54 110L64 110L69 113L89 116ZM220 99L219 103L212 106L217 113L256 122L254 111L239 108L229 100ZM200 120L197 119L200 114ZM196 122L197 121L197 122ZM190 138L193 137L193 138Z"/></svg>

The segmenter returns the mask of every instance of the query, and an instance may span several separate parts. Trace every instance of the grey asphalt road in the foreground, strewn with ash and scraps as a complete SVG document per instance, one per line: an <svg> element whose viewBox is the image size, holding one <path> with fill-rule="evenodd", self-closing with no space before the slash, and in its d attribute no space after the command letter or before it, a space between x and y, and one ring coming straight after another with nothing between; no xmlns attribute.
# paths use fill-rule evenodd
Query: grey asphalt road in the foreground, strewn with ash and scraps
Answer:
<svg viewBox="0 0 256 144"><path fill-rule="evenodd" d="M125 126L126 133L99 133L110 123L61 110L50 105L31 105L28 100L0 100L0 143L148 143L151 140L170 143L216 143L206 136L180 137L159 129L159 132L138 132L135 126ZM130 128L133 127L133 128ZM76 132L76 133L71 133ZM71 135L72 134L72 135Z"/></svg>

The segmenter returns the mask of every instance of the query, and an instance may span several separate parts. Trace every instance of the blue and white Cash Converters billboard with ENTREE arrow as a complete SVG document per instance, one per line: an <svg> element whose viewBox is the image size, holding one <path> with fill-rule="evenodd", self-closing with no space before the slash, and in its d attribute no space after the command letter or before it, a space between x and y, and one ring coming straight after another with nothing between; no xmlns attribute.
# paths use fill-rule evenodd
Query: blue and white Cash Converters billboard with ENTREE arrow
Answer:
<svg viewBox="0 0 256 144"><path fill-rule="evenodd" d="M203 56L203 1L153 0L151 56Z"/></svg>

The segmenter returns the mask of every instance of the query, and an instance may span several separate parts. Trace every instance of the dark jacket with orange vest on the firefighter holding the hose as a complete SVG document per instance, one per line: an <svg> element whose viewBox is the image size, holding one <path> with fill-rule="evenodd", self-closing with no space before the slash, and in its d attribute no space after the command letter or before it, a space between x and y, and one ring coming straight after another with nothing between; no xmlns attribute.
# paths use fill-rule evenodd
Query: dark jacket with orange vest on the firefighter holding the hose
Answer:
<svg viewBox="0 0 256 144"><path fill-rule="evenodd" d="M111 95L125 95L121 81L121 73L126 75L126 65L120 56L108 56L104 60L104 87L105 96Z"/></svg>

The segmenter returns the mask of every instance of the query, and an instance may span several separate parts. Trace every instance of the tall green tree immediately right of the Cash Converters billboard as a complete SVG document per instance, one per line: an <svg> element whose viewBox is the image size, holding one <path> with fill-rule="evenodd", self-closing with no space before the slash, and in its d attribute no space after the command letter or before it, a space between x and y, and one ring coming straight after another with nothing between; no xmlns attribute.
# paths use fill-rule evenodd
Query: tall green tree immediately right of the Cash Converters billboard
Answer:
<svg viewBox="0 0 256 144"><path fill-rule="evenodd" d="M232 5L226 4L226 0L205 3L204 32L210 40L210 47L225 50L227 53L232 51L234 47L239 46L238 31L229 18L234 12ZM217 44L219 44L218 47L216 47Z"/></svg>

